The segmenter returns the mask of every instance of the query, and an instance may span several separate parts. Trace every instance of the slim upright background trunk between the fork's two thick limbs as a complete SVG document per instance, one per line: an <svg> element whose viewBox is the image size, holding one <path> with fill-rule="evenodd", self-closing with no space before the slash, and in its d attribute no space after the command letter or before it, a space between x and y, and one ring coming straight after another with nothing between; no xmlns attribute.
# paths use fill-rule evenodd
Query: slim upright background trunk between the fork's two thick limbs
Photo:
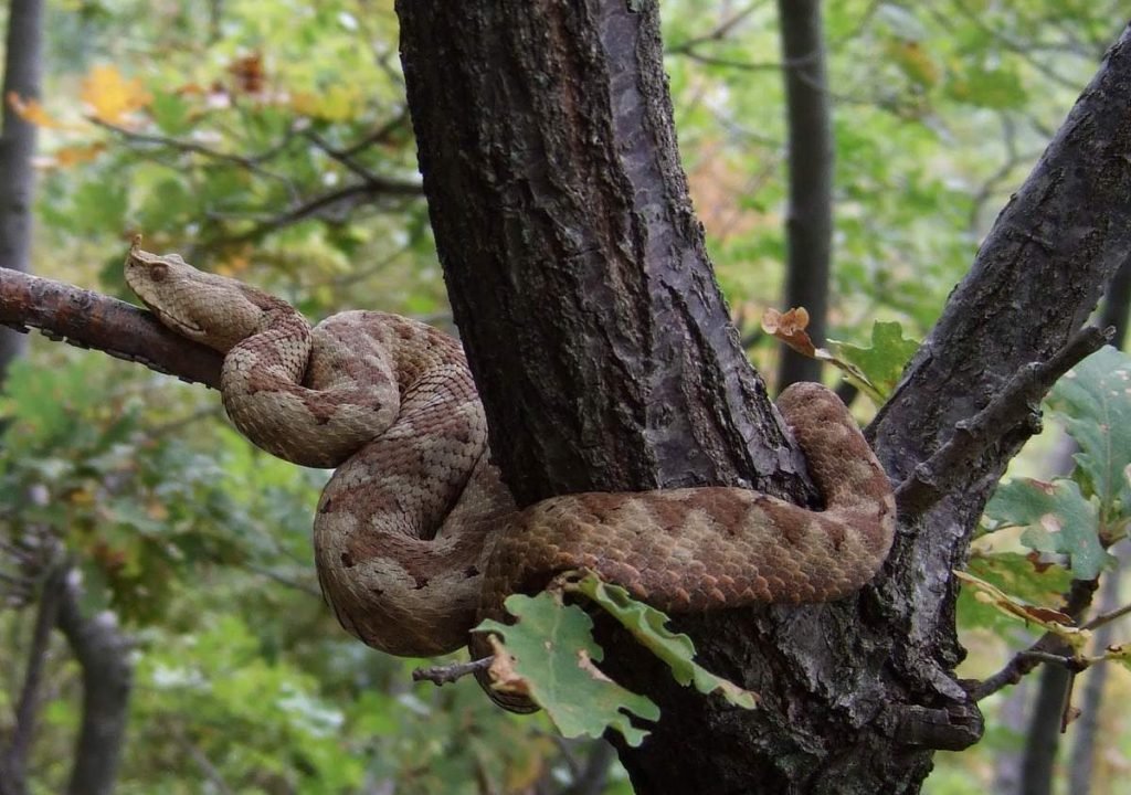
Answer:
<svg viewBox="0 0 1131 795"><path fill-rule="evenodd" d="M824 344L832 249L831 103L821 0L778 0L789 128L785 306L809 311L809 336ZM821 363L780 345L777 388L820 381Z"/></svg>

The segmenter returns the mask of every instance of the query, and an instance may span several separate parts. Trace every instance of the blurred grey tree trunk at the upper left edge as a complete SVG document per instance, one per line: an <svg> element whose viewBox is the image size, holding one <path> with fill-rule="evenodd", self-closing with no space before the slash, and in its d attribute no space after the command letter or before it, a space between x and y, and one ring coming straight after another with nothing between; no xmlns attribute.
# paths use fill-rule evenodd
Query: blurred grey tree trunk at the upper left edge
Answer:
<svg viewBox="0 0 1131 795"><path fill-rule="evenodd" d="M0 128L0 263L27 271L32 252L32 196L35 173L35 126L11 110L8 97L23 100L40 96L40 52L43 28L43 0L11 0L8 11L8 37L5 50L3 123ZM12 360L27 345L27 338L0 328L0 383Z"/></svg>

